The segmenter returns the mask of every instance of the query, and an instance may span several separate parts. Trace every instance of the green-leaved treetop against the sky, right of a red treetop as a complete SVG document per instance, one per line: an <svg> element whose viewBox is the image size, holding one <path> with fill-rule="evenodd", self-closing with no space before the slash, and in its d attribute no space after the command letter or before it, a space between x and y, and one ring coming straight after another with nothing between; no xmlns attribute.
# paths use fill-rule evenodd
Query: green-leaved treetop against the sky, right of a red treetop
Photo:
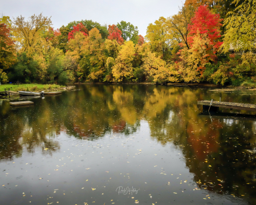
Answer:
<svg viewBox="0 0 256 205"><path fill-rule="evenodd" d="M117 28L122 32L121 36L124 40L132 40L134 44L137 44L139 39L137 26L133 26L130 22L127 23L122 20L120 23L117 23Z"/></svg>

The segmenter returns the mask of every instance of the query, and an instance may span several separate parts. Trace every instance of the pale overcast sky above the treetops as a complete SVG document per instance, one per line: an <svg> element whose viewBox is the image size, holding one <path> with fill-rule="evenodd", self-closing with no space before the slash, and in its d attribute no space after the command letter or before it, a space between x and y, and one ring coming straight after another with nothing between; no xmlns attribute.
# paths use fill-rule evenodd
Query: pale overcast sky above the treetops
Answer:
<svg viewBox="0 0 256 205"><path fill-rule="evenodd" d="M0 0L0 13L13 19L42 12L51 17L55 29L74 20L91 19L107 25L124 20L145 36L149 23L177 14L178 6L182 6L181 0Z"/></svg>

